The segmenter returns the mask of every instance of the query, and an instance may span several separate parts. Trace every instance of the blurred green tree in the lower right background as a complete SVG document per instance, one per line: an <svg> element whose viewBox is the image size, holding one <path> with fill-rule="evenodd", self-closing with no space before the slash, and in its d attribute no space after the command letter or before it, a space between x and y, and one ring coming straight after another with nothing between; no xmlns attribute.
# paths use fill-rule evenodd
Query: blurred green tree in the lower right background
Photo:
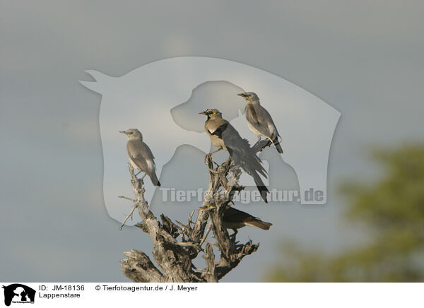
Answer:
<svg viewBox="0 0 424 308"><path fill-rule="evenodd" d="M384 177L364 186L341 187L348 220L367 227L370 241L336 256L283 244L284 263L272 282L416 282L424 280L424 147L375 152Z"/></svg>

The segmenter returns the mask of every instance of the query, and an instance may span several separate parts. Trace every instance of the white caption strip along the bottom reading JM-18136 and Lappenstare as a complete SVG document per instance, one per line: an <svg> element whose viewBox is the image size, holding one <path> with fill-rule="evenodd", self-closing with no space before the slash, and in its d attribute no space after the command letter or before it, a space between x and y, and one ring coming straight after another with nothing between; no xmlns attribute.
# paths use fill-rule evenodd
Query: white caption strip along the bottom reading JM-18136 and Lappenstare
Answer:
<svg viewBox="0 0 424 308"><path fill-rule="evenodd" d="M1 283L7 286L12 283ZM423 283L22 283L30 307L423 307ZM83 290L81 290L83 287ZM46 290L43 290L46 288ZM59 290L54 290L59 288ZM96 290L100 288L100 290ZM137 289L138 288L138 289ZM125 290L126 289L126 290ZM4 293L4 292L1 292ZM3 294L2 294L3 295ZM64 297L79 295L79 297ZM54 298L52 298L54 296ZM4 296L1 299L4 301ZM13 297L13 300L19 300ZM3 303L2 303L3 304ZM154 305L154 306L153 306ZM217 306L220 305L220 306ZM28 307L19 303L11 307Z"/></svg>

